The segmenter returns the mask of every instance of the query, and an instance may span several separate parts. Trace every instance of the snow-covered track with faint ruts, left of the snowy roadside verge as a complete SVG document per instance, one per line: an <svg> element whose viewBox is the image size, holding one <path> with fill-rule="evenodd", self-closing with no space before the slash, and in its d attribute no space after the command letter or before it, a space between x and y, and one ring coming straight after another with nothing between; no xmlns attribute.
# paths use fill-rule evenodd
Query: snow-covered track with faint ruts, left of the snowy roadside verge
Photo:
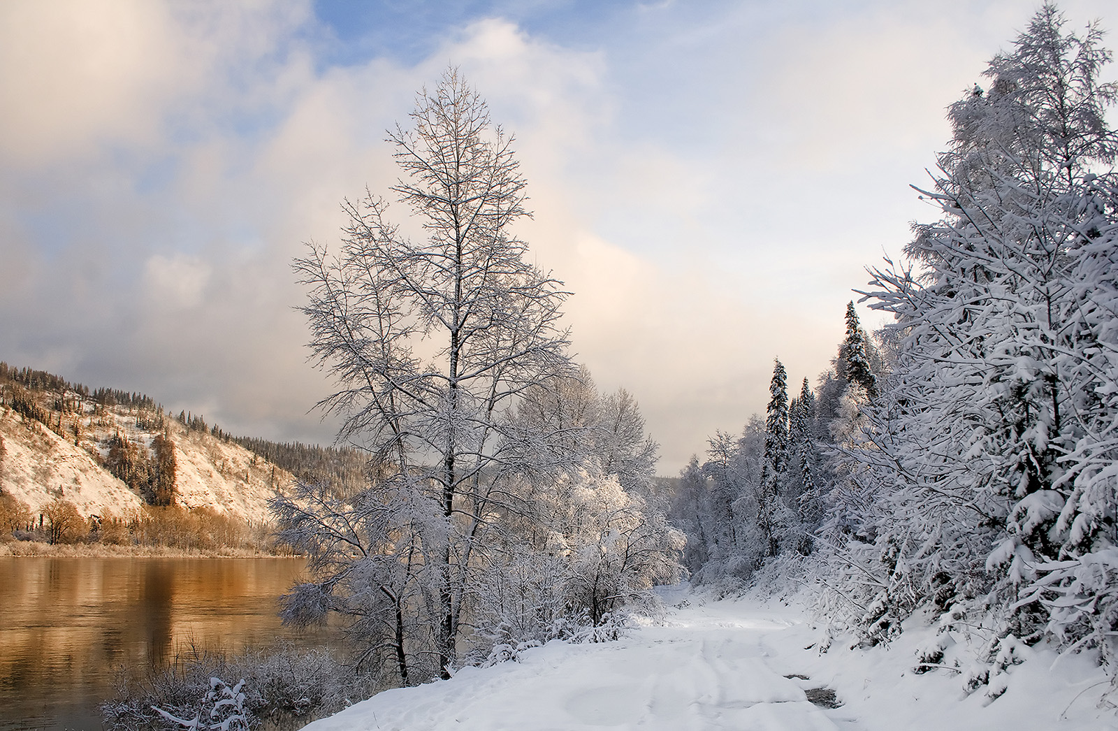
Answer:
<svg viewBox="0 0 1118 731"><path fill-rule="evenodd" d="M802 615L726 602L672 611L662 626L618 642L551 643L519 663L387 691L306 731L837 728L808 702L809 682L785 677L769 662L765 638L799 624Z"/></svg>

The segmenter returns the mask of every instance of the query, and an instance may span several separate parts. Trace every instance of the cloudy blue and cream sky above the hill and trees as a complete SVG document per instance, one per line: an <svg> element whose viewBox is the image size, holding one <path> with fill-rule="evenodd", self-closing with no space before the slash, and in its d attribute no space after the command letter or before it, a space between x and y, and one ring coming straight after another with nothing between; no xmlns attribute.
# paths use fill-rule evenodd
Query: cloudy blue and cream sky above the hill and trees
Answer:
<svg viewBox="0 0 1118 731"><path fill-rule="evenodd" d="M910 186L946 106L1038 8L8 0L0 360L332 442L291 262L388 194L386 130L456 66L517 137L517 234L574 293L576 360L634 395L675 475L764 411L775 358L794 387L828 367L866 267L936 218ZM1118 27L1112 0L1060 8Z"/></svg>

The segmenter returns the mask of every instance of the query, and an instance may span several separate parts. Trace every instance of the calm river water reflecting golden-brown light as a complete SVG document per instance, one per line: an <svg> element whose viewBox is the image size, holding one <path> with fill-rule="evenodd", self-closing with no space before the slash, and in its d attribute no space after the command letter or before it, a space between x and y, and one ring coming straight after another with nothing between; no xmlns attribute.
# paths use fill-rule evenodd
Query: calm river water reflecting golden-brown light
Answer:
<svg viewBox="0 0 1118 731"><path fill-rule="evenodd" d="M311 645L276 616L300 559L0 558L0 731L98 731L124 666L192 644ZM325 632L325 630L324 630Z"/></svg>

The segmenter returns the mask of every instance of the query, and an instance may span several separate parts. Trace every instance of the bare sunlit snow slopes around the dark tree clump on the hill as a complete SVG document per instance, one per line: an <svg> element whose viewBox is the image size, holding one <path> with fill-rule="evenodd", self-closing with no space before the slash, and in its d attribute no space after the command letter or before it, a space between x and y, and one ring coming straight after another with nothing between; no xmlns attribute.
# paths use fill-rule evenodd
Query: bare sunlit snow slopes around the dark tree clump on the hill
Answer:
<svg viewBox="0 0 1118 731"><path fill-rule="evenodd" d="M139 510L143 497L102 466L105 439L114 434L150 449L155 436L167 430L177 463L176 504L186 509L206 506L253 524L269 522L268 499L293 480L291 473L240 445L188 429L172 418L162 419L162 428L157 428L142 412L125 407L93 411L91 406L66 419L68 428L77 424L78 436L64 428L69 438L63 438L0 406L6 449L0 487L32 512L56 497L73 502L84 516L104 515L106 510L122 516Z"/></svg>

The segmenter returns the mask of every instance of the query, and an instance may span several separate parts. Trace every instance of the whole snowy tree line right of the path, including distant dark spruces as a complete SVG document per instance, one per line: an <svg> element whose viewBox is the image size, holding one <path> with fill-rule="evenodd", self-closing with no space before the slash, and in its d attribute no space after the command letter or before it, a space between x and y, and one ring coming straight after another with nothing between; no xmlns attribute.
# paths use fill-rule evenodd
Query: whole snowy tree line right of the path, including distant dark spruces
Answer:
<svg viewBox="0 0 1118 731"><path fill-rule="evenodd" d="M891 322L869 338L852 303L814 411L777 363L765 420L684 471L673 516L698 579L809 553L825 614L863 642L938 618L917 672L969 636L976 664L955 670L989 699L1041 642L1118 677L1118 86L1101 40L1045 4L948 108L953 140L917 188L940 218L860 293Z"/></svg>

